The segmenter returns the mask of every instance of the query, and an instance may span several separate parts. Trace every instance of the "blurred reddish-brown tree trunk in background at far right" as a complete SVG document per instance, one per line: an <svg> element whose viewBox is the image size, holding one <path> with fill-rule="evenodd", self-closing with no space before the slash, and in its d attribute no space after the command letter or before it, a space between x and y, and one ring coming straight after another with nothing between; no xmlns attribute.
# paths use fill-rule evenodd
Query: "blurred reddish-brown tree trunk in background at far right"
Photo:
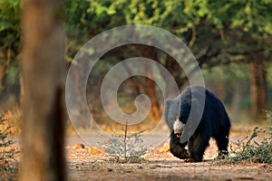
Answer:
<svg viewBox="0 0 272 181"><path fill-rule="evenodd" d="M249 62L251 112L254 119L260 115L266 105L266 71L264 61Z"/></svg>

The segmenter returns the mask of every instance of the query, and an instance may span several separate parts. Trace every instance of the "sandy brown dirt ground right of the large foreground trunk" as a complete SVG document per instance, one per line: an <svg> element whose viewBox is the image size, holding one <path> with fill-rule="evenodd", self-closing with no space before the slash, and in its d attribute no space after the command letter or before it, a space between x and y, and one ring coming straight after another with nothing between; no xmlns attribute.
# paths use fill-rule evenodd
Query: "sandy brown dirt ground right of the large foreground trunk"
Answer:
<svg viewBox="0 0 272 181"><path fill-rule="evenodd" d="M96 139L100 138L93 138ZM148 141L151 140L149 138ZM69 180L272 180L272 165L231 165L214 159L217 147L213 140L210 141L204 161L200 163L187 163L173 157L167 151L168 143L165 141L165 144L148 151L144 157L147 161L137 164L112 163L99 149L73 147L80 141L79 138L68 138L67 141Z"/></svg>

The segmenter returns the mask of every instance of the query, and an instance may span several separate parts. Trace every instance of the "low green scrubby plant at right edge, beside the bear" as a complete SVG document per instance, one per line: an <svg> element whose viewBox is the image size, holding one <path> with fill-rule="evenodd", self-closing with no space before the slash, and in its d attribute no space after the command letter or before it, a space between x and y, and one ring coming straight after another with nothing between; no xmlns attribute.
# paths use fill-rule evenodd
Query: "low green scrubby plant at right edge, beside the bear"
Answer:
<svg viewBox="0 0 272 181"><path fill-rule="evenodd" d="M233 142L230 145L230 156L224 157L225 161L230 163L267 163L272 164L272 112L264 111L265 119L267 119L268 125L264 128L256 127L253 129L250 137L238 139L237 142ZM257 141L256 138L263 136L261 141Z"/></svg>

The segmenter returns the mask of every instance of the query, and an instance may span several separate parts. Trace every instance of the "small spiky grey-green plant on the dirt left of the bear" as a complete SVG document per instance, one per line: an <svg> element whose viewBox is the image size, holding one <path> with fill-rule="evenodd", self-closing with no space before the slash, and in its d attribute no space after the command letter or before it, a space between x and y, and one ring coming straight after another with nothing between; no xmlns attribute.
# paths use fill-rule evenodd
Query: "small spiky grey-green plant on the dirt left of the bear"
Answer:
<svg viewBox="0 0 272 181"><path fill-rule="evenodd" d="M144 161L142 158L146 154L146 147L141 138L144 130L136 133L128 134L128 124L126 122L125 129L122 129L123 135L114 134L109 141L102 145L105 152L114 160L120 163L139 163Z"/></svg>

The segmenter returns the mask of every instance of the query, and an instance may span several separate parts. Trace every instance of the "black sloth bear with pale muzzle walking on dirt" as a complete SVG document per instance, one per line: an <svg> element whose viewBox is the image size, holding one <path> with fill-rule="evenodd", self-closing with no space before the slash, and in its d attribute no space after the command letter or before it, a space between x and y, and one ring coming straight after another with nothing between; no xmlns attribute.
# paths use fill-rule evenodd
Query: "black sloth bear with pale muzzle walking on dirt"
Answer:
<svg viewBox="0 0 272 181"><path fill-rule="evenodd" d="M188 123L192 104L196 105L194 108L200 108L199 111L195 111L200 112L199 123L196 119L190 119ZM201 104L202 110L204 109L202 115ZM192 118L195 118L194 115ZM215 138L219 156L228 154L230 129L228 114L222 102L209 90L201 86L191 86L183 90L174 100L166 100L164 119L170 129L170 152L173 156L193 162L202 161L205 149L209 147L209 138ZM195 131L186 133L194 123ZM188 129L186 129L187 125L189 125ZM180 138L184 134L189 137L181 143ZM187 145L188 151L185 149Z"/></svg>

